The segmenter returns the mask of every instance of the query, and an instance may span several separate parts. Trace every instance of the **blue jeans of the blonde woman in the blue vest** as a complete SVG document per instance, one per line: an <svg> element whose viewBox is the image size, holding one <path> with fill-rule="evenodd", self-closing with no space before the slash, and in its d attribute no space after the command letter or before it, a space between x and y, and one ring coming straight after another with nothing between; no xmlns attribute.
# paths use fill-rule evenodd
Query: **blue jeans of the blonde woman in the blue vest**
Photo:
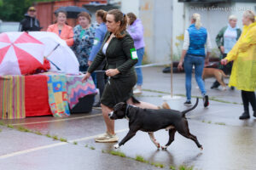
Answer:
<svg viewBox="0 0 256 170"><path fill-rule="evenodd" d="M186 95L187 100L191 99L191 79L192 79L192 69L195 65L195 80L201 90L202 95L206 95L207 91L205 88L205 82L203 82L201 76L204 70L205 58L193 55L186 55L184 59L184 69L186 74Z"/></svg>

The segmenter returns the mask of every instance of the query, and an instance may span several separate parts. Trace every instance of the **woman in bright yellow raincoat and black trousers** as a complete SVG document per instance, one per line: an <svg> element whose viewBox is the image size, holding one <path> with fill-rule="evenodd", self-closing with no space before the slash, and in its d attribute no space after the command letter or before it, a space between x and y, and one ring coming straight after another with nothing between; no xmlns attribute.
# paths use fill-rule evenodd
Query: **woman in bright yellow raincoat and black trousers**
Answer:
<svg viewBox="0 0 256 170"><path fill-rule="evenodd" d="M243 14L244 25L241 37L236 42L226 58L221 60L226 65L234 60L229 86L241 90L241 99L244 112L239 119L248 119L249 103L253 107L253 116L256 117L256 19L253 11L247 10Z"/></svg>

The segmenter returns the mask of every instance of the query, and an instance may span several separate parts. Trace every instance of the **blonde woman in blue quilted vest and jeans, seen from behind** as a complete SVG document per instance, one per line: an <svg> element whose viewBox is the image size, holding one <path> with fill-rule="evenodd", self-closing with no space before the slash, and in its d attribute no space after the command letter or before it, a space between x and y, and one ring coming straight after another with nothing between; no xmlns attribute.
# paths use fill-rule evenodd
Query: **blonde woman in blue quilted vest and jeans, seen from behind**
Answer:
<svg viewBox="0 0 256 170"><path fill-rule="evenodd" d="M207 55L205 52L205 45L207 44ZM201 90L204 106L209 105L207 90L201 78L204 65L209 63L209 56L211 54L211 41L207 29L201 26L200 14L193 14L191 18L191 25L184 33L183 52L177 68L184 69L186 75L186 96L187 100L184 105L191 105L191 79L193 65L195 66L195 80Z"/></svg>

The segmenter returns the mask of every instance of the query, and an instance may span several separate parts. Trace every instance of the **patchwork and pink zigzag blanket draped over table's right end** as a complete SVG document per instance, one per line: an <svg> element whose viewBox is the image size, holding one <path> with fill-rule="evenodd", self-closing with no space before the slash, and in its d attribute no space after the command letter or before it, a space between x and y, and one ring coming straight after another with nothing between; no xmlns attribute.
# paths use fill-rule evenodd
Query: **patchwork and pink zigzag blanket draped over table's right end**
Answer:
<svg viewBox="0 0 256 170"><path fill-rule="evenodd" d="M48 78L49 107L53 116L69 116L70 109L85 95L96 94L95 84L90 77L82 82L83 75L45 74ZM69 106L69 107L68 107Z"/></svg>

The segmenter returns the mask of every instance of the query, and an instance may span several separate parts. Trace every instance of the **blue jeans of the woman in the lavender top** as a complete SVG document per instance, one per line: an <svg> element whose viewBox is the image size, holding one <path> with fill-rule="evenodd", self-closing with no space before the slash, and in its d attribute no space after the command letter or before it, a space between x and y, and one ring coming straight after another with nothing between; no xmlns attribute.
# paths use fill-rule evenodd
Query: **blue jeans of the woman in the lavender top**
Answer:
<svg viewBox="0 0 256 170"><path fill-rule="evenodd" d="M144 55L144 48L137 49L137 64L135 66L140 66L143 63L143 55ZM137 73L137 86L143 85L143 70L142 68L135 69Z"/></svg>

